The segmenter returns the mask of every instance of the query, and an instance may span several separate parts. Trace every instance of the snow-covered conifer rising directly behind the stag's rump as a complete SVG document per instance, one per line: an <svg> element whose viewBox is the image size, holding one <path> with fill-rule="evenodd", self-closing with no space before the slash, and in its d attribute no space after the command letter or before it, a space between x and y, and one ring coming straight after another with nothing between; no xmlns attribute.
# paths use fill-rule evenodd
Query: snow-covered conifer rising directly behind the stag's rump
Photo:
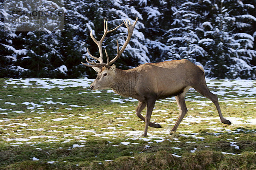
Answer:
<svg viewBox="0 0 256 170"><path fill-rule="evenodd" d="M199 10L200 9L200 10ZM206 51L198 45L201 20L204 19L201 2L189 1L181 4L175 13L172 28L169 29L167 42L175 48L172 59L189 59L197 64ZM198 13L201 12L201 13Z"/></svg>

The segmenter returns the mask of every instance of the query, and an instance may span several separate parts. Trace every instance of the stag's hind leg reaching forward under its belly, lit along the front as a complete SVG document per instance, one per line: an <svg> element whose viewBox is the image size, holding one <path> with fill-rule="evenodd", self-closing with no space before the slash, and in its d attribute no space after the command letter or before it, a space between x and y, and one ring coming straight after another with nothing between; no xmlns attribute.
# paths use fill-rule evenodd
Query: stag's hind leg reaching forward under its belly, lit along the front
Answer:
<svg viewBox="0 0 256 170"><path fill-rule="evenodd" d="M186 113L188 112L188 110L186 108L186 103L185 103L185 95L189 91L189 88L190 87L185 88L182 94L179 94L178 96L175 96L177 105L179 106L179 109L180 109L180 114L179 114L179 117L177 119L177 122L175 123L175 125L174 125L174 127L172 128L171 131L176 131L177 130L178 126L180 125L180 122L182 121L182 119L184 118Z"/></svg>

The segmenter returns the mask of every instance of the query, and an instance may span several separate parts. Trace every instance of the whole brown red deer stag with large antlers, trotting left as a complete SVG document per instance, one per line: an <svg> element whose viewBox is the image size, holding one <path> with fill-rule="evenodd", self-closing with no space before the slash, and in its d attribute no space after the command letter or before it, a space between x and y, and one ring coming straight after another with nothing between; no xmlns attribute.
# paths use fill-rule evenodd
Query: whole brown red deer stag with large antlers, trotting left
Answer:
<svg viewBox="0 0 256 170"><path fill-rule="evenodd" d="M87 57L86 61L90 65L82 62L82 64L86 65L87 67L92 67L98 72L98 76L90 85L90 88L92 90L111 88L116 94L137 99L139 104L136 109L136 114L140 119L145 121L145 131L143 136L147 136L148 125L150 127L161 127L159 124L150 122L150 117L156 100L164 99L170 96L175 96L177 105L180 109L177 122L172 128L172 131L177 130L181 120L187 113L184 99L185 94L187 91L189 91L189 88L194 88L200 94L212 100L217 108L221 122L230 125L231 122L225 119L221 114L218 97L215 94L212 94L207 88L204 69L202 67L195 65L186 59L181 59L175 61L146 63L129 70L120 70L116 68L116 65L113 63L121 56L122 52L125 50L125 47L128 45L137 20L138 18L133 25L131 25L129 20L124 21L124 24L128 29L128 37L121 50L119 50L118 40L116 40L117 54L116 57L114 57L111 61L109 61L109 57L105 49L107 63L103 63L102 59L102 42L107 33L115 31L122 24L108 31L108 20L104 20L104 34L99 41L93 37L92 31L90 31L90 37L99 48L99 57L94 57L92 54L90 54L87 48L90 57L98 60L99 63L89 62ZM144 118L140 113L146 106L147 112Z"/></svg>

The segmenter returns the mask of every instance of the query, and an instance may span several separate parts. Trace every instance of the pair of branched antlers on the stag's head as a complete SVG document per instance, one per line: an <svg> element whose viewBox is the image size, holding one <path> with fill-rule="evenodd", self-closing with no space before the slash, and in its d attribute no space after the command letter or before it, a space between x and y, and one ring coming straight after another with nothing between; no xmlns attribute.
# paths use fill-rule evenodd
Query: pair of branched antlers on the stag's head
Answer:
<svg viewBox="0 0 256 170"><path fill-rule="evenodd" d="M131 35L134 31L134 27L136 25L138 21L138 17L136 18L136 21L133 23L133 25L131 25L130 21L129 20L124 20L123 23L125 23L125 26L126 28L128 29L128 37L127 39L125 40L125 43L124 45L122 46L121 50L119 50L119 44L118 44L118 40L116 39L116 44L117 44L117 55L116 57L114 57L110 62L109 62L109 57L108 57L108 53L105 50L105 53L106 53L106 57L107 57L107 64L103 63L103 54L102 54L102 42L103 40L105 39L106 35L112 31L115 31L117 28L119 28L120 26L122 26L123 23L121 23L119 26L117 26L116 28L108 31L108 19L106 20L106 18L104 19L104 23L103 23L103 27L104 27L104 34L102 36L102 38L97 41L94 37L93 37L93 33L92 33L92 30L90 30L90 37L93 39L93 41L98 45L98 48L99 48L99 57L94 57L92 54L90 54L88 48L87 48L87 51L88 51L88 54L90 55L90 57L92 57L93 59L96 59L99 61L99 63L96 63L96 62L89 62L87 60L87 57L85 57L86 61L90 64L90 65L87 65L83 62L81 62L83 65L86 65L87 67L102 67L102 66L105 66L105 67L109 67L110 65L112 65L116 59L118 59L122 52L125 50L126 46L128 45L130 39L131 39Z"/></svg>

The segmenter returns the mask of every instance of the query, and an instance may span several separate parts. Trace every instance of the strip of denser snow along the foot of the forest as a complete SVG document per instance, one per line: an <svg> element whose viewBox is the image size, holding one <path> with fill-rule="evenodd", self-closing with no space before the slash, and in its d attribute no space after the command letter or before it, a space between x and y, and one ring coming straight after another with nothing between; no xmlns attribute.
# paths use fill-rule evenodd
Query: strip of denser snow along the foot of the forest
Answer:
<svg viewBox="0 0 256 170"><path fill-rule="evenodd" d="M33 82L33 83L32 83ZM20 88L31 88L32 85L37 85L33 88L52 89L59 88L64 90L67 87L83 87L89 88L93 79L8 79L6 85L14 85L13 88L17 88L16 85L22 85ZM226 96L223 99L237 98L241 96L244 98L253 98L256 95L256 81L254 80L221 80L221 81L207 81L209 88L215 88L215 94L218 96ZM193 91L191 89L190 91ZM86 91L81 93L101 93L102 91ZM113 92L113 91L109 91ZM234 93L234 94L231 94ZM244 96L245 95L245 96ZM186 98L190 98L187 96Z"/></svg>

